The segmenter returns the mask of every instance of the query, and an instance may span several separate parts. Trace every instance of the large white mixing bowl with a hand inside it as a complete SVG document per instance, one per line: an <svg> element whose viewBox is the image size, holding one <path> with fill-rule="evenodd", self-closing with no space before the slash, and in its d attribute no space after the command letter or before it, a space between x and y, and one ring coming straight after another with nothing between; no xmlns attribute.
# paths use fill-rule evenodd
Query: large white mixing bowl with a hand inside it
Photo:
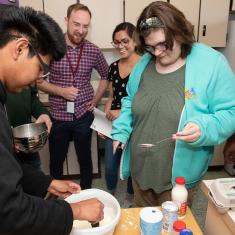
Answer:
<svg viewBox="0 0 235 235"><path fill-rule="evenodd" d="M70 235L112 235L121 216L120 204L117 199L100 189L86 189L79 194L72 194L65 200L69 203L79 202L89 198L97 198L104 204L104 220L100 221L100 226L92 228L87 221L74 220L74 226ZM76 226L80 225L80 228Z"/></svg>

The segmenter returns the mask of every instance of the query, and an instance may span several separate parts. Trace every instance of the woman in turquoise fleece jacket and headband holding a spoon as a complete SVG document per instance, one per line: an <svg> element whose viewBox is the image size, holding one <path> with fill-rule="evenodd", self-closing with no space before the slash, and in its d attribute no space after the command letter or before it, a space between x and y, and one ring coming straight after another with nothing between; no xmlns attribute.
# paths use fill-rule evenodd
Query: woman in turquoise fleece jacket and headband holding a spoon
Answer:
<svg viewBox="0 0 235 235"><path fill-rule="evenodd" d="M169 3L148 5L137 31L147 53L130 75L112 130L114 151L126 145L122 177L131 172L138 206L156 206L171 200L183 176L190 203L213 146L235 130L234 75L221 53L195 42L193 26Z"/></svg>

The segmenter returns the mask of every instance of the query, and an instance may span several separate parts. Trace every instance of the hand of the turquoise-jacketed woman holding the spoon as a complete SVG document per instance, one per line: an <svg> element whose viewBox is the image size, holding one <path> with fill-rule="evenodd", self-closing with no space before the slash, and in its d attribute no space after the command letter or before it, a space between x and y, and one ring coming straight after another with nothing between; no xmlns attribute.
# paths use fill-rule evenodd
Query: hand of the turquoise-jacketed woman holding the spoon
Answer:
<svg viewBox="0 0 235 235"><path fill-rule="evenodd" d="M201 136L201 130L195 123L189 122L183 131L172 135L174 140L183 140L185 142L195 142Z"/></svg>

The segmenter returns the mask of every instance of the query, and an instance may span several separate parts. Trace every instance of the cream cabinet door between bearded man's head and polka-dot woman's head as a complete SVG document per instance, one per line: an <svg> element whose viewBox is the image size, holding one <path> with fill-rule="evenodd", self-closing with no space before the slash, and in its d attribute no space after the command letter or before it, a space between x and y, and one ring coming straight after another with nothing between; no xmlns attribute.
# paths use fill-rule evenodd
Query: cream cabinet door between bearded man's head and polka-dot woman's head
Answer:
<svg viewBox="0 0 235 235"><path fill-rule="evenodd" d="M100 48L112 48L112 33L123 22L123 0L81 0L92 13L87 39Z"/></svg>

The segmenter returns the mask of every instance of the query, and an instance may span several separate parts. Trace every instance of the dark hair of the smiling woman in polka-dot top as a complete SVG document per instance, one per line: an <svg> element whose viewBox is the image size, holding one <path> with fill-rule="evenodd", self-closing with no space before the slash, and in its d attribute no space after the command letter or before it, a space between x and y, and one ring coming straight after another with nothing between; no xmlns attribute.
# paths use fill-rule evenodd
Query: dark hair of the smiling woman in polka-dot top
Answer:
<svg viewBox="0 0 235 235"><path fill-rule="evenodd" d="M135 47L136 53L143 54L143 48L140 47L139 37L137 36L135 25L133 25L130 22L122 22L122 23L118 24L115 27L113 34L112 34L113 41L115 38L115 34L120 31L125 31L127 33L127 35L136 42L136 47Z"/></svg>

